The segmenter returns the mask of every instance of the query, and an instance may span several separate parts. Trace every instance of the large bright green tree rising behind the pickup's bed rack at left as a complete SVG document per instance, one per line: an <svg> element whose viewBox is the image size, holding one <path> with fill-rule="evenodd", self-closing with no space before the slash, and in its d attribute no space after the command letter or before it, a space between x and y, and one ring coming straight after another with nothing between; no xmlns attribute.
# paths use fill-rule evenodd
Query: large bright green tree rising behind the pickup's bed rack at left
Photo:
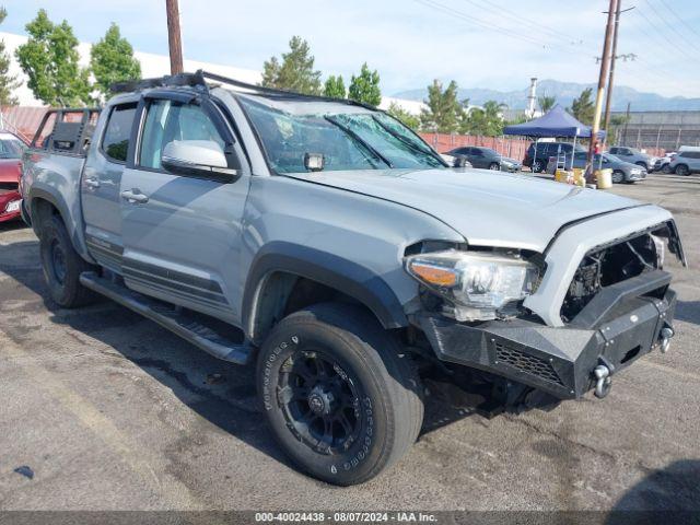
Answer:
<svg viewBox="0 0 700 525"><path fill-rule="evenodd" d="M78 38L68 22L55 25L40 9L25 28L30 38L15 55L34 96L50 106L91 104L90 72L78 63Z"/></svg>

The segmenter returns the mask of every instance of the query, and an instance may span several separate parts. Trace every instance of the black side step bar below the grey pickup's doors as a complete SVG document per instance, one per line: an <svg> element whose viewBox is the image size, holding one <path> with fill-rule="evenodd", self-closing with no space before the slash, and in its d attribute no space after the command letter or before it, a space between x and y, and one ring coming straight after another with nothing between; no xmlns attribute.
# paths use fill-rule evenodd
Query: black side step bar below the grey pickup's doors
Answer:
<svg viewBox="0 0 700 525"><path fill-rule="evenodd" d="M179 313L174 307L168 307L167 303L129 290L125 285L97 276L93 271L81 273L80 283L154 320L163 328L167 328L214 358L236 364L247 364L250 361L253 348L249 345L231 341L211 328L189 318L186 314Z"/></svg>

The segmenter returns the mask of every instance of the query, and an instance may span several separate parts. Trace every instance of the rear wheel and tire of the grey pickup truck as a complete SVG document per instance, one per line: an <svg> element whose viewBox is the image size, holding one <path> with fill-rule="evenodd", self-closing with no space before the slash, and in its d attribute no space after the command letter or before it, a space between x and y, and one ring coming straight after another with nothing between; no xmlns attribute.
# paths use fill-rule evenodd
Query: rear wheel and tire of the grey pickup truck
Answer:
<svg viewBox="0 0 700 525"><path fill-rule="evenodd" d="M83 271L94 270L94 267L78 255L58 215L42 222L39 254L44 278L56 304L62 308L75 308L95 299L92 290L79 280Z"/></svg>

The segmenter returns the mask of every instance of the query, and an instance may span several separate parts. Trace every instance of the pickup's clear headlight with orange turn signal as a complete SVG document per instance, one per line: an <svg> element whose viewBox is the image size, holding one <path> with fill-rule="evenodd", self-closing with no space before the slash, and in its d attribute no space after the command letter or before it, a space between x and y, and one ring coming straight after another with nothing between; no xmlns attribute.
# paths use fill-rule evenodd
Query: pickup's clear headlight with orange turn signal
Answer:
<svg viewBox="0 0 700 525"><path fill-rule="evenodd" d="M406 271L454 305L457 320L495 319L500 308L535 291L539 268L518 256L445 250L411 255Z"/></svg>

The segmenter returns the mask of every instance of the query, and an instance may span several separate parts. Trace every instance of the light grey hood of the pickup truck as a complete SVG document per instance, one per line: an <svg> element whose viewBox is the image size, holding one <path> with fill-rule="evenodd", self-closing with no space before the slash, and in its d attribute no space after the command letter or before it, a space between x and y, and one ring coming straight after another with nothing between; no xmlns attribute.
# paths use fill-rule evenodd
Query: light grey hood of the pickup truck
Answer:
<svg viewBox="0 0 700 525"><path fill-rule="evenodd" d="M640 202L595 189L482 170L368 170L287 174L389 200L444 222L475 246L544 252L570 222Z"/></svg>

